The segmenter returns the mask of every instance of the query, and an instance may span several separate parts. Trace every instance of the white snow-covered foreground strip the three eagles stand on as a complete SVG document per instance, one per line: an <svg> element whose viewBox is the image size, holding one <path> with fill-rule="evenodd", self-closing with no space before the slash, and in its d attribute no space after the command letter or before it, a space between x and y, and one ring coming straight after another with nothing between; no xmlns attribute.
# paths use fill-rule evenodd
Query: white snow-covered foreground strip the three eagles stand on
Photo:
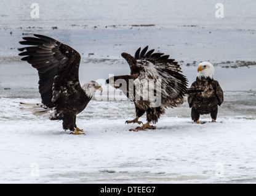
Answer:
<svg viewBox="0 0 256 196"><path fill-rule="evenodd" d="M255 98L256 93L242 94ZM234 107L226 100L218 123L199 125L191 122L184 104L168 110L156 130L130 132L137 125L124 122L134 118L134 104L92 100L77 119L86 135L70 135L61 121L20 110L20 101L39 99L0 99L1 183L256 181L256 115L255 106L244 114L248 102Z"/></svg>

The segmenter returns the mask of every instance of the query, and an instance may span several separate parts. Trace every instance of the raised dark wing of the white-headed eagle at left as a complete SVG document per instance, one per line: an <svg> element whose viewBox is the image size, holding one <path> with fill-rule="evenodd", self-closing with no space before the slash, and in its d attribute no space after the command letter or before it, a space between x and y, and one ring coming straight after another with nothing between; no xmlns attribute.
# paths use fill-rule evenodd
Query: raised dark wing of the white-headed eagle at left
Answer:
<svg viewBox="0 0 256 196"><path fill-rule="evenodd" d="M23 37L19 48L20 56L38 70L39 92L42 104L55 107L65 104L65 99L74 96L73 87L81 88L78 70L81 56L73 48L50 37L34 34L35 37Z"/></svg>

